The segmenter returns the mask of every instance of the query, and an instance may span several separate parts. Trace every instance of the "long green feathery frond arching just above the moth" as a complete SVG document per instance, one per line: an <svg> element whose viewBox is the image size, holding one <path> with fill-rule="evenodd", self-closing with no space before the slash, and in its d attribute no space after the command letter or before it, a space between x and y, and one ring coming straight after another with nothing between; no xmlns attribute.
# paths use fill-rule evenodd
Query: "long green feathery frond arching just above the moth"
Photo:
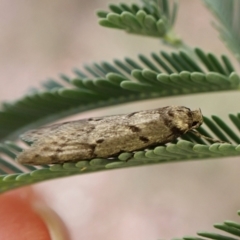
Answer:
<svg viewBox="0 0 240 240"><path fill-rule="evenodd" d="M77 78L62 75L43 84L0 111L0 139L14 140L20 133L61 117L104 106L144 99L238 90L240 78L226 56L222 62L213 54L196 49L199 60L185 52L139 55L102 62L75 70Z"/></svg>

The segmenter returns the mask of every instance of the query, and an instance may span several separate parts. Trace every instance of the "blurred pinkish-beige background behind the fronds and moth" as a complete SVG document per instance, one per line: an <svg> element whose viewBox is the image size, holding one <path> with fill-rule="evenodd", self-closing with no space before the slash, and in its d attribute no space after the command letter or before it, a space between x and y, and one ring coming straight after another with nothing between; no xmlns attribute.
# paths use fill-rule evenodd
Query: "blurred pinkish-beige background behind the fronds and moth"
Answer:
<svg viewBox="0 0 240 240"><path fill-rule="evenodd" d="M100 27L95 11L107 9L108 2L0 0L0 102L13 101L59 73L74 76L71 70L84 63L171 50L157 38ZM190 47L233 59L212 20L201 1L182 0L176 32ZM170 97L74 119L174 104L200 107L206 116L227 119L228 113L239 111L238 100L236 92ZM215 222L238 220L239 168L237 158L154 165L47 181L34 190L62 218L73 240L169 239L210 231Z"/></svg>

